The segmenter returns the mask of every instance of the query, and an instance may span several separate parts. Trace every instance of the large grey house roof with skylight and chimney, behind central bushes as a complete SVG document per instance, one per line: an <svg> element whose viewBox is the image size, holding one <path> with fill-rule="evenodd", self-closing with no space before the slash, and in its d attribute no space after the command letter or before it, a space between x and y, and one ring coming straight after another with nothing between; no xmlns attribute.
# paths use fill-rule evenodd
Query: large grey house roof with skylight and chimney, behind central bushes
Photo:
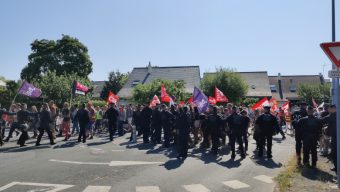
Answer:
<svg viewBox="0 0 340 192"><path fill-rule="evenodd" d="M136 84L147 84L156 79L183 80L185 92L192 93L194 87L200 85L199 66L170 66L170 67L135 67L123 88L118 92L121 98L131 98Z"/></svg>

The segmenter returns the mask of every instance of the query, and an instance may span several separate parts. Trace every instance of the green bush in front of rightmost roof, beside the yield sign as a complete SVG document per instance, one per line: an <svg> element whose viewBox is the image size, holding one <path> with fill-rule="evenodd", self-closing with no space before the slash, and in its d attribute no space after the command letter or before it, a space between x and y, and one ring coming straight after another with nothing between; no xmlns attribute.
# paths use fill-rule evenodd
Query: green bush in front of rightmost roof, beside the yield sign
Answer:
<svg viewBox="0 0 340 192"><path fill-rule="evenodd" d="M312 99L320 104L322 102L330 103L331 84L300 84L297 88L297 93L300 99L310 105L312 105Z"/></svg>

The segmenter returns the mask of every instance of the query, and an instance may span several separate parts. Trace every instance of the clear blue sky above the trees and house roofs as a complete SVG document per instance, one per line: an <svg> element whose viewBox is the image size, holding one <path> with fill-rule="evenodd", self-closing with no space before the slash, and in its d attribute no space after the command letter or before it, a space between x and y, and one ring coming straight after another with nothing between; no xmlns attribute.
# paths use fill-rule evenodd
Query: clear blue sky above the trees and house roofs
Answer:
<svg viewBox="0 0 340 192"><path fill-rule="evenodd" d="M331 0L1 0L0 76L18 79L30 43L61 34L88 47L92 80L149 61L199 65L201 73L219 66L271 75L331 68L319 46L331 41Z"/></svg>

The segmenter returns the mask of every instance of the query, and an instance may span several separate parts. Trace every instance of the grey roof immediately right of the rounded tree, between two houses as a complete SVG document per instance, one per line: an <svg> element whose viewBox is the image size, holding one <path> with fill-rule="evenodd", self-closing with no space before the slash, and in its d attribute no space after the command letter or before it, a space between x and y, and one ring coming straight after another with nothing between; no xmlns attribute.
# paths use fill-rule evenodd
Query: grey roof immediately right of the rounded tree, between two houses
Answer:
<svg viewBox="0 0 340 192"><path fill-rule="evenodd" d="M237 72L246 81L248 92L246 97L271 97L267 71ZM214 73L204 73L209 75Z"/></svg>

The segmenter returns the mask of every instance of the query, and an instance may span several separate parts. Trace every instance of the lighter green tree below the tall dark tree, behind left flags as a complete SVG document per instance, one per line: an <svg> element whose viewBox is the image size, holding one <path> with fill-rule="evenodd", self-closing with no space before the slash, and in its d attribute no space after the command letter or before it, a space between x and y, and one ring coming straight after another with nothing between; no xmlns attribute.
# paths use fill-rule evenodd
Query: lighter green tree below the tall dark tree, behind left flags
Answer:
<svg viewBox="0 0 340 192"><path fill-rule="evenodd" d="M45 102L53 100L58 106L62 106L64 102L70 102L73 81L76 80L83 85L92 87L91 81L87 78L78 76L77 74L57 75L55 71L48 71L40 80L34 80L32 83L41 89L42 97ZM72 103L85 102L90 100L91 93L86 96L74 96Z"/></svg>

